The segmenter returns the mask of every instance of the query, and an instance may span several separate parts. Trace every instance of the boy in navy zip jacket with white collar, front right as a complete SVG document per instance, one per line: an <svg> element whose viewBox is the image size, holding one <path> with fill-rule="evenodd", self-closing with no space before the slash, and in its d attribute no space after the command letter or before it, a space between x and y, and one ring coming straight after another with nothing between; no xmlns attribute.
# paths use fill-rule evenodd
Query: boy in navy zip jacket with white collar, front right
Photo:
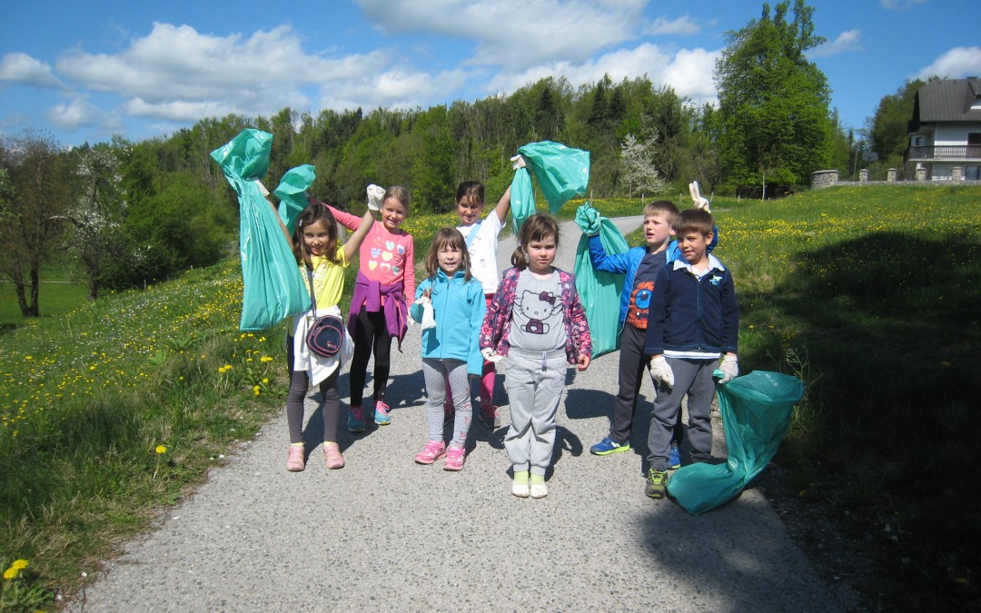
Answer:
<svg viewBox="0 0 981 613"><path fill-rule="evenodd" d="M665 460L682 398L688 394L692 461L706 462L712 452L712 373L722 370L719 383L739 375L739 305L732 275L708 253L714 224L700 209L679 215L674 230L683 259L666 265L654 281L644 344L651 377L658 382L647 433L645 494L651 498L664 497Z"/></svg>

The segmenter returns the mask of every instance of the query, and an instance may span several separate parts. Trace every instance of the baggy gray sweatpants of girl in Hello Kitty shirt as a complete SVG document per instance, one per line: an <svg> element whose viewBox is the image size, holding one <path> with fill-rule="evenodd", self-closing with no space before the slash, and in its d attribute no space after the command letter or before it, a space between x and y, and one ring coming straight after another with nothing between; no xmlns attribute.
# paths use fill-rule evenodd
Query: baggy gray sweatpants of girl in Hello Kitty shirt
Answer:
<svg viewBox="0 0 981 613"><path fill-rule="evenodd" d="M555 412L568 369L565 350L507 352L504 376L511 406L511 426L504 449L514 471L544 475L555 444Z"/></svg>

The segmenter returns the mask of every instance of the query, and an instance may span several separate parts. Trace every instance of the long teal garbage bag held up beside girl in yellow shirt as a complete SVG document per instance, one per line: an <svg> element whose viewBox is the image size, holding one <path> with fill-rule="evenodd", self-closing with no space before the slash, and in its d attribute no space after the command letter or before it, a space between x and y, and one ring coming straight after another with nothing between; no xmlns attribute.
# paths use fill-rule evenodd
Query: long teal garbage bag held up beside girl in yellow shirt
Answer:
<svg viewBox="0 0 981 613"><path fill-rule="evenodd" d="M265 330L310 308L310 295L280 222L253 182L269 168L272 142L272 134L247 128L211 152L238 194L243 284L238 328L243 331Z"/></svg>

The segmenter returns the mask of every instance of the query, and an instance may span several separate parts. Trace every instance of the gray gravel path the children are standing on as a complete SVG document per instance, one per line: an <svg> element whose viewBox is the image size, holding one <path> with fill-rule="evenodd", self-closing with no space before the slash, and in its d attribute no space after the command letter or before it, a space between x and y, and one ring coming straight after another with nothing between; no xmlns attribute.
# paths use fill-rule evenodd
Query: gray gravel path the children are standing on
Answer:
<svg viewBox="0 0 981 613"><path fill-rule="evenodd" d="M626 233L640 220L617 221ZM556 264L571 271L580 232L572 223L562 231ZM513 248L513 237L502 239L502 262ZM284 470L283 413L107 563L70 610L843 609L758 489L697 517L647 498L645 419L631 452L589 453L607 432L615 353L570 371L549 494L534 500L510 494L506 428L474 424L462 473L413 463L427 437L418 328L403 350L392 352L392 424L357 435L341 425L343 470L324 468L319 398L310 396L305 472ZM346 369L340 385L346 400ZM642 406L651 392L645 383Z"/></svg>

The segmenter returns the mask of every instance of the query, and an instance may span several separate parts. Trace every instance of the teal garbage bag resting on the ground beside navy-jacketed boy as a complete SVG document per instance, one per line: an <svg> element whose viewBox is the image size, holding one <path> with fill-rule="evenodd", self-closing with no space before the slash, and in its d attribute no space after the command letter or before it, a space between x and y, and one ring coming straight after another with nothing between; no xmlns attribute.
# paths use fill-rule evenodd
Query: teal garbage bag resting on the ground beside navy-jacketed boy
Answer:
<svg viewBox="0 0 981 613"><path fill-rule="evenodd" d="M739 495L759 475L787 434L803 382L783 373L753 371L716 385L729 447L725 464L683 466L668 480L668 493L697 515Z"/></svg>

